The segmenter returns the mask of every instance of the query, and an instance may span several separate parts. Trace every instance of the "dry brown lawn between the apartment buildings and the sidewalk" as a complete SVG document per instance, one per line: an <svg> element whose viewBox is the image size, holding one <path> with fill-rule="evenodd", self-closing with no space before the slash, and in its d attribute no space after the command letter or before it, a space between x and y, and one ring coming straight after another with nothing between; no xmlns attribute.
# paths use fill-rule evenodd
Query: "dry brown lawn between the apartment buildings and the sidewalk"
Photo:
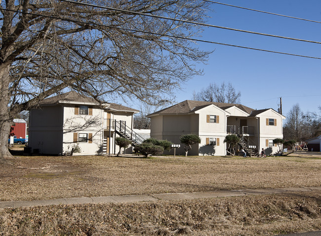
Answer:
<svg viewBox="0 0 321 236"><path fill-rule="evenodd" d="M0 166L0 201L320 186L307 157L17 156Z"/></svg>

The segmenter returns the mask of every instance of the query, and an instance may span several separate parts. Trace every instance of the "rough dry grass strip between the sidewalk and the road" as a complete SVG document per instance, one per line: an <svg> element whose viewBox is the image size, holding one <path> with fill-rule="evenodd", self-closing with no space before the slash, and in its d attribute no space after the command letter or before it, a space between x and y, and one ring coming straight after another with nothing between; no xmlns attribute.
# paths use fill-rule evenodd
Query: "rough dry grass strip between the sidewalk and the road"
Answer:
<svg viewBox="0 0 321 236"><path fill-rule="evenodd" d="M256 236L321 230L321 191L0 210L0 235Z"/></svg>

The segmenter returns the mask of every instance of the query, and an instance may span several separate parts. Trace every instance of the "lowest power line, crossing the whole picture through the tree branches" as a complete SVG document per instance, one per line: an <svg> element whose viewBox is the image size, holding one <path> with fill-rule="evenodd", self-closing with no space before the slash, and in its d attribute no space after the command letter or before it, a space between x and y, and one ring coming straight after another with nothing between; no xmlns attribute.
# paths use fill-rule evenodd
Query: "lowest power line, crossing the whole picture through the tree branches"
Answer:
<svg viewBox="0 0 321 236"><path fill-rule="evenodd" d="M202 42L202 43L209 43L209 44L217 44L217 45L230 46L230 47L240 47L240 48L245 48L245 49L258 50L258 51L266 51L266 52L279 53L279 54L291 55L291 56L300 56L300 57L306 57L306 58L321 59L321 57L305 56L305 55L300 55L300 54L293 54L293 53L286 53L286 52L280 52L280 51L265 50L265 49L254 48L254 47L243 47L243 46L238 46L238 45L223 44L223 43L217 43L217 42L213 42L213 41L192 39L192 38L186 38L186 37L180 37L180 36L174 36L174 35L165 35L165 34L159 34L159 33L153 33L153 32L141 31L141 30L126 29L126 28L121 28L121 27L116 27L116 26L108 26L108 25L103 25L103 24L98 24L98 23L93 23L93 22L83 22L83 21L79 21L79 20L65 19L65 18L56 17L56 16L46 16L46 15L37 14L37 13L31 13L31 12L22 12L22 11L9 10L9 9L4 9L4 8L0 8L0 10L6 10L6 11L17 12L17 13L24 13L24 14L30 14L30 15L43 16L43 17L47 17L47 18L51 18L51 19L70 21L70 22L80 23L80 24L87 24L87 25L94 25L94 26L102 26L102 27L120 29L120 30L125 30L125 31L133 31L133 32L136 32L136 33L144 33L144 34L158 35L158 36L168 37L168 38L176 38L176 39L190 40L190 41L196 41L196 42Z"/></svg>

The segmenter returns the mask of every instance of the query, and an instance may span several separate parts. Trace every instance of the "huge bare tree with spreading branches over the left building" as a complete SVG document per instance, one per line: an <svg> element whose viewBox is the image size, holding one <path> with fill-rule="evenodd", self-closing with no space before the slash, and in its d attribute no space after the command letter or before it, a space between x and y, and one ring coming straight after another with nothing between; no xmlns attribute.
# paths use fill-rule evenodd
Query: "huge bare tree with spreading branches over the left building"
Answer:
<svg viewBox="0 0 321 236"><path fill-rule="evenodd" d="M108 8L82 2L88 1L0 1L0 163L10 156L15 114L52 94L76 90L97 100L136 97L152 104L201 74L193 61L209 52L184 39L200 28L135 12L204 22L205 1L107 1Z"/></svg>

